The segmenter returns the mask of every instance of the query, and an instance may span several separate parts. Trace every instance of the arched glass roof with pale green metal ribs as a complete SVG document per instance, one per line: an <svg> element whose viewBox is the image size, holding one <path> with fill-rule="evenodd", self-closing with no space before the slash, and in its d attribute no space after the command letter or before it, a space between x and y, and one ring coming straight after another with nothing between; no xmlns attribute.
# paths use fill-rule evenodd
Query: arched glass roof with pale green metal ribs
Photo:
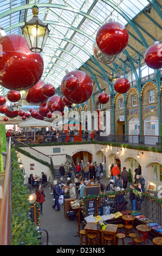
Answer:
<svg viewBox="0 0 162 256"><path fill-rule="evenodd" d="M20 26L33 17L32 6L34 4L38 6L38 18L48 23L50 29L42 53L44 59L42 80L53 83L58 88L67 69L80 69L93 56L92 46L96 32L111 15L115 21L130 26L129 21L138 17L151 2L147 0L1 0L0 26L7 34L22 34ZM152 15L152 19L153 17ZM131 34L132 31L131 38L135 43L127 47L130 47L130 51L133 48L135 56L139 48L137 42L142 39L139 38L137 29L133 29L131 27L129 32ZM145 33L141 28L139 30ZM112 68L112 65L109 66L109 70ZM94 69L93 66L92 71ZM4 92L5 89L1 87L0 94Z"/></svg>

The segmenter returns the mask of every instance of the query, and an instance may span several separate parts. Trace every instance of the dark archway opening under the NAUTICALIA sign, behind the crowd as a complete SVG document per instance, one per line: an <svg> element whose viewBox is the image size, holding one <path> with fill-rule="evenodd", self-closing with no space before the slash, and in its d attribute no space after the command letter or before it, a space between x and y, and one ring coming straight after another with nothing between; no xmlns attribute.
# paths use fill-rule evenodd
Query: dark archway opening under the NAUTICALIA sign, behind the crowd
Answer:
<svg viewBox="0 0 162 256"><path fill-rule="evenodd" d="M81 162L83 160L84 163L91 163L93 161L93 154L87 151L76 151L76 153L72 156L73 162L76 166L77 162Z"/></svg>

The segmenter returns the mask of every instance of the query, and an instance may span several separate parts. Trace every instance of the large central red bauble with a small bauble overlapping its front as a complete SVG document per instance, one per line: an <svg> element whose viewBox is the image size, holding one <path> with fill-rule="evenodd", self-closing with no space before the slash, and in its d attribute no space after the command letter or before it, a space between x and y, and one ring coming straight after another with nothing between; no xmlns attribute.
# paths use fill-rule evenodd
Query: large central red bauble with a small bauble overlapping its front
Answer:
<svg viewBox="0 0 162 256"><path fill-rule="evenodd" d="M66 79L71 75L74 75L77 80L79 80L79 87L74 91L68 90L65 84ZM61 82L61 92L69 102L83 103L87 101L93 93L92 79L81 70L71 71L63 77Z"/></svg>

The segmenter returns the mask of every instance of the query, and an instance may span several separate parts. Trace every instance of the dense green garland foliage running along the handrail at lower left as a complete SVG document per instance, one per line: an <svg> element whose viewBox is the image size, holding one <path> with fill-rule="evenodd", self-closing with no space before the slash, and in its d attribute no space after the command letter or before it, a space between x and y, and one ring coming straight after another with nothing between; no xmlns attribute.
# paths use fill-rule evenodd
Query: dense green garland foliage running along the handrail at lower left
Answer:
<svg viewBox="0 0 162 256"><path fill-rule="evenodd" d="M15 149L11 149L11 224L12 224L12 245L39 245L35 224L29 216L30 202L28 200L29 190L23 186L23 175L17 163Z"/></svg>

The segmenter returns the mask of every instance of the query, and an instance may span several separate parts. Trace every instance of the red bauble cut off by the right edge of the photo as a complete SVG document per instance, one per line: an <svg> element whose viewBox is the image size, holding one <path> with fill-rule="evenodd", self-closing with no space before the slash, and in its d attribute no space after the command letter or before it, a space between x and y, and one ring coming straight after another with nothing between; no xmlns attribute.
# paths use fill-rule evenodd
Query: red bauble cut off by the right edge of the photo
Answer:
<svg viewBox="0 0 162 256"><path fill-rule="evenodd" d="M151 69L162 68L162 44L155 41L153 45L147 48L144 60L146 65Z"/></svg>

